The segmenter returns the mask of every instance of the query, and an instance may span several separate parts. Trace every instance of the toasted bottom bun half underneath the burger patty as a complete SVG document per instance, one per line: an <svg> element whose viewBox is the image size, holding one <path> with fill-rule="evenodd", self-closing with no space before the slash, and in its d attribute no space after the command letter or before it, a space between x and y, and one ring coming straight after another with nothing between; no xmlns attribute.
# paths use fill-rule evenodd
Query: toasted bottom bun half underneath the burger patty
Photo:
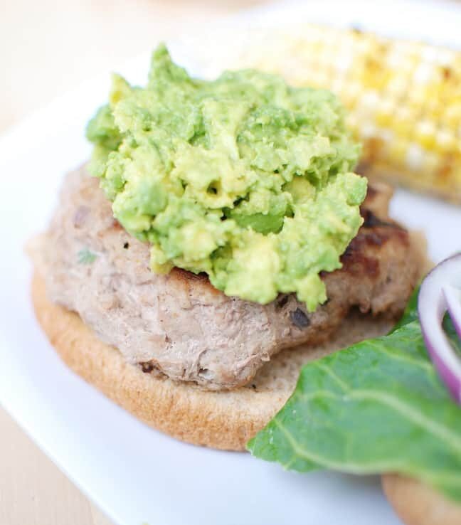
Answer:
<svg viewBox="0 0 461 525"><path fill-rule="evenodd" d="M117 349L97 339L77 314L51 303L38 275L33 277L32 296L38 322L51 344L65 364L88 383L161 432L226 450L245 450L250 437L287 401L302 364L390 328L384 319L349 317L328 344L282 351L248 386L212 392L143 373L128 364Z"/></svg>

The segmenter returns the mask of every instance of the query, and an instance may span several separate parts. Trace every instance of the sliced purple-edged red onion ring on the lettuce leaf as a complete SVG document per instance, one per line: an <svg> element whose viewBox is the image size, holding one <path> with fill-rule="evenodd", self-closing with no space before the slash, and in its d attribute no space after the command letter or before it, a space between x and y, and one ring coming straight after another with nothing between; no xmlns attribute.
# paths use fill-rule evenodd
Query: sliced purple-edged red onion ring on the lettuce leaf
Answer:
<svg viewBox="0 0 461 525"><path fill-rule="evenodd" d="M418 296L421 331L430 359L455 401L461 404L461 358L442 327L447 311L461 337L461 253L437 265L423 280Z"/></svg>

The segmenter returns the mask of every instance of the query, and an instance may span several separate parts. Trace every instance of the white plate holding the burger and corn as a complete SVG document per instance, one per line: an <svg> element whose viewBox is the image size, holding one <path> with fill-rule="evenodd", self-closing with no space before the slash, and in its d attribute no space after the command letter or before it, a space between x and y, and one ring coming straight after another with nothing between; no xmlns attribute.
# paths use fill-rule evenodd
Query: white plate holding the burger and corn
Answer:
<svg viewBox="0 0 461 525"><path fill-rule="evenodd" d="M223 31L291 21L355 23L461 47L461 9L440 1L278 4L230 18ZM193 42L184 38L171 49L199 74L207 56ZM209 46L206 53L213 52ZM148 59L119 71L142 82ZM377 477L285 472L248 454L184 445L147 428L70 372L38 329L23 245L46 226L65 171L88 157L83 130L108 85L105 72L0 139L2 405L120 525L398 524ZM461 249L461 208L398 191L392 211L425 230L434 260Z"/></svg>

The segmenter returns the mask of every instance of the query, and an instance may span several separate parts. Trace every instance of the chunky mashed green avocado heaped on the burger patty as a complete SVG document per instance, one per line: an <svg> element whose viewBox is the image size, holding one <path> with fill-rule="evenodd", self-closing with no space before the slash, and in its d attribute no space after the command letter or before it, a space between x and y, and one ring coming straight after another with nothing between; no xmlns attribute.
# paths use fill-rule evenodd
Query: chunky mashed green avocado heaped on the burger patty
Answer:
<svg viewBox="0 0 461 525"><path fill-rule="evenodd" d="M206 272L262 304L296 292L313 311L327 299L319 272L341 267L366 194L331 92L255 70L197 80L160 46L145 88L114 76L87 136L90 171L152 246L154 272Z"/></svg>

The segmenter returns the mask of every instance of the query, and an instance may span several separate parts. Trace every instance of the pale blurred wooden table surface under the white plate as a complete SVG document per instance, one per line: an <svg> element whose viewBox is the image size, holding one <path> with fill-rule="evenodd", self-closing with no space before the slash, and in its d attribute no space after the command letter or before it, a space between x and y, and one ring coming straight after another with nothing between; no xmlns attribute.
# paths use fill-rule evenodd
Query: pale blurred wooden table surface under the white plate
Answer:
<svg viewBox="0 0 461 525"><path fill-rule="evenodd" d="M0 133L100 68L257 2L0 0ZM110 525L1 408L0 525Z"/></svg>

